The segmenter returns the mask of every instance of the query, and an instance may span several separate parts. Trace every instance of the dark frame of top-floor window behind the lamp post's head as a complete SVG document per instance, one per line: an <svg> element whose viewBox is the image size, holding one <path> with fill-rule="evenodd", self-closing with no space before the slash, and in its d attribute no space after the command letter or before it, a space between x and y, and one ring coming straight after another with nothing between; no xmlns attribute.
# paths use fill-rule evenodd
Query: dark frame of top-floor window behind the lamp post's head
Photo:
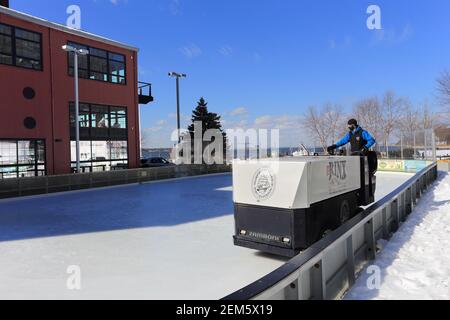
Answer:
<svg viewBox="0 0 450 320"><path fill-rule="evenodd" d="M80 70L83 70L83 71L85 71L87 73L87 77L83 77L83 76L81 76L79 74L78 76L79 76L80 79L92 80L92 81L98 81L98 82L110 83L110 84L116 84L116 85L121 85L121 86L126 86L128 84L128 81L127 81L127 74L128 74L128 72L127 72L127 56L125 54L118 53L118 52L112 52L112 51L109 51L109 50L100 49L100 48L96 48L96 47L92 47L92 46L88 46L88 45L84 45L84 44L81 44L81 43L78 43L78 42L75 42L75 41L67 41L67 45L69 45L69 46L70 45L72 45L72 46L74 46L74 45L75 46L82 46L82 47L85 47L87 50L89 50L89 52L91 51L91 49L106 52L106 58L98 56L98 55L95 55L95 54L92 55L92 56L95 57L95 58L99 58L99 59L106 59L106 70L107 70L107 73L105 74L105 73L100 73L100 72L91 70L91 54L89 53L87 55L87 69L78 67L78 69L79 69L78 73L79 73ZM116 59L112 58L113 55L122 56L123 57L123 61L119 61L119 60L116 60ZM124 76L115 75L115 74L112 74L110 72L110 61L123 63L124 70L125 70ZM91 79L91 73L92 72L106 75L108 79L106 81L105 80L100 80L100 79ZM74 73L75 73L74 67L70 66L70 53L68 52L67 53L67 74L68 74L69 77L73 77ZM118 79L123 79L124 82L113 82L112 81L113 77L116 77Z"/></svg>

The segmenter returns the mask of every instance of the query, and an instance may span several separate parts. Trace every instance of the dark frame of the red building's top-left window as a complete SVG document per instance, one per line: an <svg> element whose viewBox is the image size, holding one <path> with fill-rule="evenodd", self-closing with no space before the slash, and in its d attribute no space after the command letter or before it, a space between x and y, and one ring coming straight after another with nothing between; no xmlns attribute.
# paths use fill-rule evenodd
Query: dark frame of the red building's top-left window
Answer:
<svg viewBox="0 0 450 320"><path fill-rule="evenodd" d="M43 52L43 37L42 37L42 33L37 32L37 31L33 31L33 30L28 30L28 29L24 29L21 27L16 27L13 25L9 25L3 22L0 22L1 25L6 26L8 28L11 28L11 34L5 34L5 33L1 33L1 35L3 36L7 36L11 38L11 55L9 54L5 54L2 53L5 56L11 57L12 59L12 63L1 63L0 65L5 65L5 66L11 66L11 67L17 67L17 68L22 68L22 69L27 69L27 70L33 70L33 71L44 71L44 52ZM29 32L29 33L33 33L35 35L39 36L39 41L35 41L35 40L29 40L29 39L25 39L25 38L21 38L21 37L17 37L16 36L16 30L21 30L21 31L25 31L25 32ZM36 60L36 59L31 59L31 58L26 58L26 57L22 57L22 56L18 56L17 55L17 44L16 44L16 39L22 40L22 41L27 41L27 42L32 42L35 44L39 44L39 55L40 55L40 59ZM27 59L27 60L33 60L33 61L38 61L39 62L39 68L29 68L29 67L25 67L23 65L19 65L17 64L17 58L19 59Z"/></svg>

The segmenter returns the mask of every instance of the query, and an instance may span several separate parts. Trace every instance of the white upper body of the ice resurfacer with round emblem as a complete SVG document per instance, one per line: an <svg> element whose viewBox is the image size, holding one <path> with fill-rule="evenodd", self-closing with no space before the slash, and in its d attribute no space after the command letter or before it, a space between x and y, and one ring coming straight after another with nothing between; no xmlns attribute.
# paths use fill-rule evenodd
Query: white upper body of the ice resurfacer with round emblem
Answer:
<svg viewBox="0 0 450 320"><path fill-rule="evenodd" d="M283 209L309 208L360 189L360 167L360 157L234 160L233 201Z"/></svg>

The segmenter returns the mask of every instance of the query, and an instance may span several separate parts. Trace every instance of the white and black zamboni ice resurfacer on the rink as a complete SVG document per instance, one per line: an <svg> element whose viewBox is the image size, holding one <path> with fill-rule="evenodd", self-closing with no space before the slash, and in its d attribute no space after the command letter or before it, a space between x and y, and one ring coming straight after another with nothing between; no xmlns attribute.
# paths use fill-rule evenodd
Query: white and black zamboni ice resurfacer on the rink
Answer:
<svg viewBox="0 0 450 320"><path fill-rule="evenodd" d="M297 255L374 202L371 163L367 156L235 160L234 244Z"/></svg>

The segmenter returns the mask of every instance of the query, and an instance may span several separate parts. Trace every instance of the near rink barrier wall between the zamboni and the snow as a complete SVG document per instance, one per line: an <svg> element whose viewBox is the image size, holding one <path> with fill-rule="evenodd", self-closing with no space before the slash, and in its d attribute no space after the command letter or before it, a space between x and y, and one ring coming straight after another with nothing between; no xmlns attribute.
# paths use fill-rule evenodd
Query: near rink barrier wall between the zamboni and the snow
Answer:
<svg viewBox="0 0 450 320"><path fill-rule="evenodd" d="M437 179L431 163L326 238L224 300L341 299Z"/></svg>

